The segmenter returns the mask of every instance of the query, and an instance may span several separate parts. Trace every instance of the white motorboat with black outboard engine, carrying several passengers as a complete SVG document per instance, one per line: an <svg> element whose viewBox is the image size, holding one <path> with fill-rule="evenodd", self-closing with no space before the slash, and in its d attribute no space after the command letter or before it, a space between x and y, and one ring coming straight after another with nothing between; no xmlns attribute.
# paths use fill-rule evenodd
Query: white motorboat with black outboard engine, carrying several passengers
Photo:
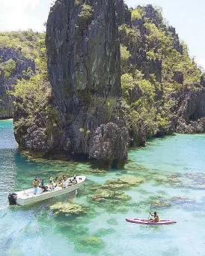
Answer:
<svg viewBox="0 0 205 256"><path fill-rule="evenodd" d="M10 205L19 204L20 206L24 206L31 203L37 203L52 197L58 197L63 194L70 193L71 191L75 191L85 182L85 179L86 176L76 176L75 179L69 178L64 182L63 187L59 187L57 185L54 188L49 188L49 185L46 185L48 187L48 190L43 192L42 188L37 188L37 194L34 194L34 188L11 193L8 195L8 202L10 203Z"/></svg>

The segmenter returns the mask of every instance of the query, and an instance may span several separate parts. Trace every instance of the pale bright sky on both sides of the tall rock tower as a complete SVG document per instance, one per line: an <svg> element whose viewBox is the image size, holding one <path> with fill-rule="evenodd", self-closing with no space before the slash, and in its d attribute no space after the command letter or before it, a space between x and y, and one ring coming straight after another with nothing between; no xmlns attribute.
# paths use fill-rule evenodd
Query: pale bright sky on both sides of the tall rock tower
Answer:
<svg viewBox="0 0 205 256"><path fill-rule="evenodd" d="M0 0L0 31L43 30L53 0ZM205 68L204 0L126 0L129 7L152 4L160 6L165 19L177 29L189 46L191 56Z"/></svg>

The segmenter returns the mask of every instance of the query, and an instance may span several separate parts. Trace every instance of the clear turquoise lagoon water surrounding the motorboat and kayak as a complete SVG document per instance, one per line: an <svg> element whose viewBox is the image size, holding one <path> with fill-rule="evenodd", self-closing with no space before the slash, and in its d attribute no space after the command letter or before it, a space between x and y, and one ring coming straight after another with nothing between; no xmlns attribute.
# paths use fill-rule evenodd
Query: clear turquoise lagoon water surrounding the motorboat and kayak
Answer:
<svg viewBox="0 0 205 256"><path fill-rule="evenodd" d="M156 139L146 148L129 151L122 170L97 173L89 164L35 162L19 154L12 122L0 122L0 255L1 256L191 256L205 251L205 135ZM85 174L76 194L32 206L7 206L7 193L31 186L38 175ZM138 177L138 186L117 190L117 196L94 200L108 179ZM101 188L102 189L102 188ZM129 197L126 197L129 196ZM122 194L120 195L122 196ZM55 215L55 203L73 202L83 215ZM177 219L164 227L129 224L127 216L147 218L150 206L161 218Z"/></svg>

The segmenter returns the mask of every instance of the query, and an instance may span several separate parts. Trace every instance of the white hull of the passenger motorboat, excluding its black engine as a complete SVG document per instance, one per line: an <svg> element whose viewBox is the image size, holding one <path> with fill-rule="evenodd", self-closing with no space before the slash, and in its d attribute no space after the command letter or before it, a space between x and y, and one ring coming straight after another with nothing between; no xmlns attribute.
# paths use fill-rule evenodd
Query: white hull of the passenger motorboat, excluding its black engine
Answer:
<svg viewBox="0 0 205 256"><path fill-rule="evenodd" d="M76 179L78 181L77 184L67 186L66 188L58 188L57 187L53 191L46 191L41 194L34 195L33 189L16 192L16 194L17 194L16 204L18 204L20 206L25 206L25 205L37 203L37 202L40 202L40 201L43 201L43 200L46 200L46 199L49 199L52 197L58 197L58 196L70 193L72 191L75 191L85 182L86 176L76 176ZM41 188L38 188L38 191L40 191L40 190L41 190Z"/></svg>

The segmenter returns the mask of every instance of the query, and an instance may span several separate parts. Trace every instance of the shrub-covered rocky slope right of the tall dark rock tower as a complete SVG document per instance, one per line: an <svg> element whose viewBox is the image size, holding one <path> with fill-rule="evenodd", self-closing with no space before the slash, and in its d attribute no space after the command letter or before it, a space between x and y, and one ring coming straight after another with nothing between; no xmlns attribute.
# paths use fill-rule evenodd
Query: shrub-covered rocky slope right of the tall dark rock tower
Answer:
<svg viewBox="0 0 205 256"><path fill-rule="evenodd" d="M122 112L132 146L138 146L146 137L174 131L174 110L180 103L175 95L189 86L200 89L202 71L175 29L166 25L160 8L147 5L130 11L132 25L119 28Z"/></svg>

